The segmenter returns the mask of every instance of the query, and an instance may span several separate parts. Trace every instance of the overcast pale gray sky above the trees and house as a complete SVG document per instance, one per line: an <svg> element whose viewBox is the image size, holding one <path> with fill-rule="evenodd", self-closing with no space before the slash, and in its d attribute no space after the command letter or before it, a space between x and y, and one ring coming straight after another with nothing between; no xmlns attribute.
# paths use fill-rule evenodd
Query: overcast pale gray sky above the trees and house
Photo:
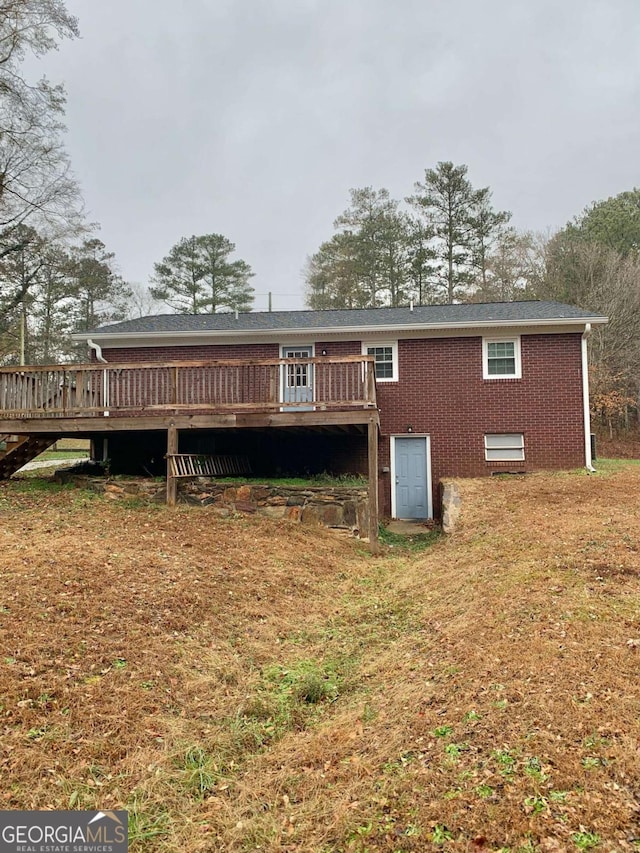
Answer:
<svg viewBox="0 0 640 853"><path fill-rule="evenodd" d="M256 310L303 307L350 187L403 198L439 160L519 228L640 184L639 0L67 0L41 62L122 275L217 232Z"/></svg>

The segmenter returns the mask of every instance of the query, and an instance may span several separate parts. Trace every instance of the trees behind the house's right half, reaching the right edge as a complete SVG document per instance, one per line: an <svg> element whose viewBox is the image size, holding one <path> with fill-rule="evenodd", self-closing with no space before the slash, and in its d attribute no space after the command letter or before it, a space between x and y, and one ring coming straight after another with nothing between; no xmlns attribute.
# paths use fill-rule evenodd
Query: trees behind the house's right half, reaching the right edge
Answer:
<svg viewBox="0 0 640 853"><path fill-rule="evenodd" d="M403 202L350 191L304 269L310 308L544 299L609 317L589 344L592 406L613 431L640 408L640 190L595 202L551 235L521 232L465 165L425 170Z"/></svg>

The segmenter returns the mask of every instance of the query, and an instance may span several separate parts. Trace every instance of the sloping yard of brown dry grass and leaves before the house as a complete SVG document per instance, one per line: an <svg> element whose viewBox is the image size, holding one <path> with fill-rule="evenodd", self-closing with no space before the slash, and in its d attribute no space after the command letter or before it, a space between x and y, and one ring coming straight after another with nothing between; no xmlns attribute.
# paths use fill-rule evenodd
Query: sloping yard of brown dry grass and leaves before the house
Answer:
<svg viewBox="0 0 640 853"><path fill-rule="evenodd" d="M640 849L640 465L461 488L371 557L0 484L0 808L126 808L145 853Z"/></svg>

